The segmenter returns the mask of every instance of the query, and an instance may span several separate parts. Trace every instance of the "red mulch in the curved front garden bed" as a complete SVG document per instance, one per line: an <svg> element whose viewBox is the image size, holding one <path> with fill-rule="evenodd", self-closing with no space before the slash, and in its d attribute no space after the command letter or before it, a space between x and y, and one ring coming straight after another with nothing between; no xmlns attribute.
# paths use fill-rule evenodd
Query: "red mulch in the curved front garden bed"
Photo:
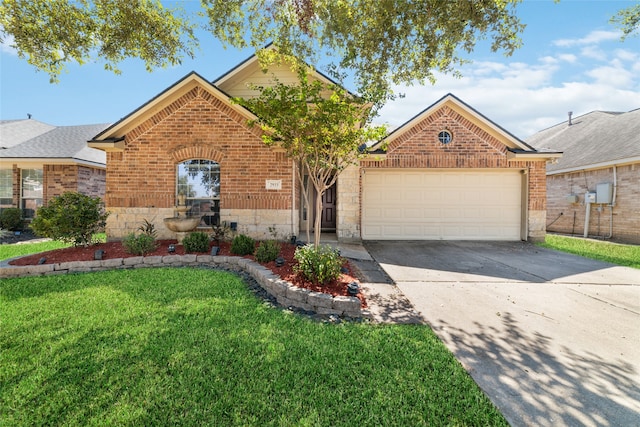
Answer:
<svg viewBox="0 0 640 427"><path fill-rule="evenodd" d="M176 240L159 240L157 241L157 243L157 249L154 252L147 254L147 256L169 255L168 247L170 244L174 244L176 247L175 255L185 254L184 247L182 245L178 245ZM213 246L213 244L211 244L211 246ZM222 242L220 244L220 252L218 252L218 256L232 256L230 248L231 245L229 242ZM344 267L347 269L347 272L343 273L338 280L334 280L326 285L316 285L311 282L305 281L301 276L296 275L293 271L293 266L297 263L293 259L293 254L295 253L296 246L290 243L282 243L281 248L282 249L280 251L280 256L285 259L284 266L276 267L276 263L274 261L262 265L269 268L282 279L300 288L306 288L316 292L323 292L326 294L331 294L333 296L348 296L347 285L351 282L358 282L358 279L354 276L353 269L348 261L346 261L344 265ZM65 249L56 249L49 252L42 252L35 255L28 255L11 261L9 264L16 266L36 265L41 258L45 258L45 264L58 264L61 262L69 261L92 261L94 259L95 252L98 249L102 249L104 251L102 259L129 258L137 256L127 253L124 250L121 242L108 242L98 243L87 248L72 247ZM202 254L206 255L209 253L210 252ZM255 257L252 255L247 255L245 256L245 258L255 261ZM360 299L362 308L366 308L367 301L362 292L358 293L358 295L356 296Z"/></svg>

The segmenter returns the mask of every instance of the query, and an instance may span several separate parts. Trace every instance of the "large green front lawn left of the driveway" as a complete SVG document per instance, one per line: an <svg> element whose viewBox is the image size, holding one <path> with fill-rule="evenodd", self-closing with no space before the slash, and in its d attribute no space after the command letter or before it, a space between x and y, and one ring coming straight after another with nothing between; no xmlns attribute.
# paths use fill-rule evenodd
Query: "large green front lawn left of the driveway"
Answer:
<svg viewBox="0 0 640 427"><path fill-rule="evenodd" d="M321 323L191 268L4 279L0 425L507 425L431 329Z"/></svg>

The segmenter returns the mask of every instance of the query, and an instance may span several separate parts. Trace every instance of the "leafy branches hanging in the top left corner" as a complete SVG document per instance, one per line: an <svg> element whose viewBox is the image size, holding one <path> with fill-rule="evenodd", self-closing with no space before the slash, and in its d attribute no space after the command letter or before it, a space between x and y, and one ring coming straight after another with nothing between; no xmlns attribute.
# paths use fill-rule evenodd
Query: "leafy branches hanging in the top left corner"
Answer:
<svg viewBox="0 0 640 427"><path fill-rule="evenodd" d="M104 61L108 70L139 58L147 70L193 57L194 24L160 1L3 0L0 42L57 82L69 62Z"/></svg>

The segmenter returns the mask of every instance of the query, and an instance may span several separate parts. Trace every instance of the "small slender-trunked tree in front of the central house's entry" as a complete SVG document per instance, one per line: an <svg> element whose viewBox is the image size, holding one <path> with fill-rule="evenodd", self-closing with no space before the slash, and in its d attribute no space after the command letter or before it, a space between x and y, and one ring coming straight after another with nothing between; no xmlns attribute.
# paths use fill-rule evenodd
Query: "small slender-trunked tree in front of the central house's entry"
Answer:
<svg viewBox="0 0 640 427"><path fill-rule="evenodd" d="M301 188L304 175L309 177L316 190L314 244L318 247L322 195L363 155L363 144L380 139L385 128L368 126L371 105L363 98L339 85L310 78L312 69L302 62L287 61L294 64L297 84L283 84L273 77L273 85L254 86L259 96L234 101L258 117L254 124L263 129L267 145L284 149L293 159Z"/></svg>

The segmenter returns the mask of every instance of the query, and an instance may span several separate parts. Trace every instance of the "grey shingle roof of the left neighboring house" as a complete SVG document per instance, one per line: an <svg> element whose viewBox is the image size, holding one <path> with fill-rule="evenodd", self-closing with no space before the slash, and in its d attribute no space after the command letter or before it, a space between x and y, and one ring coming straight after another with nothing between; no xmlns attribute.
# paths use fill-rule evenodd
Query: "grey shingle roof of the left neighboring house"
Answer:
<svg viewBox="0 0 640 427"><path fill-rule="evenodd" d="M31 120L21 120L26 130L24 134L33 129L45 129L44 126L25 123ZM44 124L44 123L42 123ZM46 132L40 132L32 138L26 139L13 146L0 149L0 159L3 161L37 161L47 163L73 163L88 164L104 167L106 164L105 153L89 148L87 139L96 132L105 129L108 124L93 124L81 126L50 126ZM2 124L4 128L4 123ZM20 133L20 132L14 132ZM2 134L4 143L5 134ZM3 146L0 144L0 146Z"/></svg>

